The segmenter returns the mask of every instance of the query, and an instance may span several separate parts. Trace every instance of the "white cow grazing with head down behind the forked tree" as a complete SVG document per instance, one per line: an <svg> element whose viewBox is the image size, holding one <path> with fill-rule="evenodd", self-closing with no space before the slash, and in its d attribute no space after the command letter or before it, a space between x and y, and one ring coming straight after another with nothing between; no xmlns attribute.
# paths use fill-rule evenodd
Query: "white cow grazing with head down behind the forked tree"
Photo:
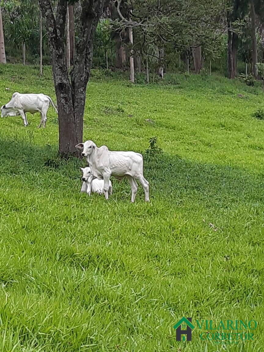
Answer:
<svg viewBox="0 0 264 352"><path fill-rule="evenodd" d="M6 103L1 107L1 117L5 116L17 116L21 115L24 126L28 125L26 113L30 112L32 115L36 112L40 112L40 124L38 128L45 127L46 124L46 113L48 111L50 102L56 113L58 113L54 103L52 102L51 98L48 95L44 94L20 94L15 92L12 95L10 102Z"/></svg>

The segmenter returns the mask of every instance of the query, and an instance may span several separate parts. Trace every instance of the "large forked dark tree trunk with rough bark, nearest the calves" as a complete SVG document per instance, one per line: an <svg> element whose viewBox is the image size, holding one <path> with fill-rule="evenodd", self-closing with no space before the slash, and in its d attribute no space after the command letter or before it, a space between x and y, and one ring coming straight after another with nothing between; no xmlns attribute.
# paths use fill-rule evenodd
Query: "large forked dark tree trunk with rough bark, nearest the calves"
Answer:
<svg viewBox="0 0 264 352"><path fill-rule="evenodd" d="M52 72L59 117L59 152L75 154L82 142L86 86L93 58L93 35L103 12L104 0L80 0L75 4L76 37L74 65L68 75L64 32L68 2L57 0L56 17L51 0L39 0L52 53Z"/></svg>

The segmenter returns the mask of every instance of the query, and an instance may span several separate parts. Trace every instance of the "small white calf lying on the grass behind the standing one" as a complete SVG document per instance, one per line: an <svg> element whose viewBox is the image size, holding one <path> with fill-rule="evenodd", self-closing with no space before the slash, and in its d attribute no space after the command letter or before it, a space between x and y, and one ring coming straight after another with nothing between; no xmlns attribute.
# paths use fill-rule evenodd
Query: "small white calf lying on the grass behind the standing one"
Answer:
<svg viewBox="0 0 264 352"><path fill-rule="evenodd" d="M88 168L80 168L82 170L82 188L81 192L85 192L88 195L93 193L103 194L105 191L103 190L103 180L98 180L98 178L94 178L91 169ZM112 183L109 181L109 194L112 194Z"/></svg>

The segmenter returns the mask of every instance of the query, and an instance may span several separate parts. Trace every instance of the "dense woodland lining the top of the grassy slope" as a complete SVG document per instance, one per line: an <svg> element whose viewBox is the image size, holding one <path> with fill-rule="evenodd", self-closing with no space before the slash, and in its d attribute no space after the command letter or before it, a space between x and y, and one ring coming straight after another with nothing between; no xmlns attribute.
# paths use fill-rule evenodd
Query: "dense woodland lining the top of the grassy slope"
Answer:
<svg viewBox="0 0 264 352"><path fill-rule="evenodd" d="M57 0L51 1L56 11ZM71 67L74 65L74 40L78 40L74 2L68 4L69 25L64 35L64 44L68 37L65 53L70 56L67 61ZM212 62L213 70L226 73L227 68L228 76L236 77L238 62L254 61L251 68L248 66L250 71L256 68L256 62L264 60L263 7L263 0L110 0L93 39L93 65L125 70L131 61L130 67L134 65L136 72L148 66L146 72L150 70L152 74L154 70L155 77L157 74L162 77L169 70L199 73L203 67L209 70L209 62ZM24 62L41 61L40 52L43 52L43 64L50 64L52 53L47 45L45 18L41 31L37 0L3 0L2 14L8 61L20 61L21 47L26 46ZM133 44L129 40L129 29ZM240 71L242 67L245 70L245 64L239 65Z"/></svg>

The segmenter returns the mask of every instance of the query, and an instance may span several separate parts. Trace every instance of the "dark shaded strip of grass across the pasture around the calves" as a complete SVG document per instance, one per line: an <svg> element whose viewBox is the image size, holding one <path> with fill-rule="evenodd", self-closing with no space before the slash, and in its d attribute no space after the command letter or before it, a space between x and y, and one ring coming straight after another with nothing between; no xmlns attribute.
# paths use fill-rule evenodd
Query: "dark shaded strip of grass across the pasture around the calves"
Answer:
<svg viewBox="0 0 264 352"><path fill-rule="evenodd" d="M144 175L150 183L152 198L158 195L178 203L184 201L184 198L195 197L206 202L207 206L210 203L223 206L223 203L228 205L239 201L254 203L264 200L262 174L249 174L228 166L200 164L165 153L152 156L143 153L143 157ZM79 168L85 164L85 160L59 158L55 146L32 145L30 135L25 140L8 140L3 137L0 140L1 175L11 177L14 183L21 177L25 184L31 187L37 184L45 189L46 175L50 175L52 180L55 178L59 181L56 182L56 189L62 187L73 191L76 180L80 181ZM113 180L121 196L124 182ZM50 186L50 182L46 186L48 184ZM128 182L125 189L130 189ZM76 189L77 191L79 190ZM140 184L138 194L143 194ZM139 195L136 199L139 200Z"/></svg>

